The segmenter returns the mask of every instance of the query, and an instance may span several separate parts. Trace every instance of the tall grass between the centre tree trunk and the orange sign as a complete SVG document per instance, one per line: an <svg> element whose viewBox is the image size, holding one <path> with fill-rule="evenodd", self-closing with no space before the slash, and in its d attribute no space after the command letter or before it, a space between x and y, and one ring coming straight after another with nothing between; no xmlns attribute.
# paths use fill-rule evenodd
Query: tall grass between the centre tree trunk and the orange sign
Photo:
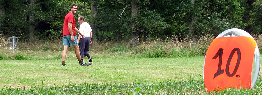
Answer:
<svg viewBox="0 0 262 95"><path fill-rule="evenodd" d="M185 56L204 56L208 46L213 41L213 36L202 36L198 40L155 39L139 44L138 57L185 57Z"/></svg>

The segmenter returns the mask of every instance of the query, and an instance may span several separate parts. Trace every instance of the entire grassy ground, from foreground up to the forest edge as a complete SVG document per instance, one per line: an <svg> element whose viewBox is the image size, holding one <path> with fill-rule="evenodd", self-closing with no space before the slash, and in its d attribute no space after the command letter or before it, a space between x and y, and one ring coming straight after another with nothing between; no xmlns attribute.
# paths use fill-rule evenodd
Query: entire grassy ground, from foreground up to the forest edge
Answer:
<svg viewBox="0 0 262 95"><path fill-rule="evenodd" d="M61 66L60 40L20 43L14 52L0 41L0 95L261 95L261 74L254 89L206 92L203 61L212 40L153 39L134 48L93 42L88 67L78 65L72 47ZM262 37L256 41L261 51Z"/></svg>

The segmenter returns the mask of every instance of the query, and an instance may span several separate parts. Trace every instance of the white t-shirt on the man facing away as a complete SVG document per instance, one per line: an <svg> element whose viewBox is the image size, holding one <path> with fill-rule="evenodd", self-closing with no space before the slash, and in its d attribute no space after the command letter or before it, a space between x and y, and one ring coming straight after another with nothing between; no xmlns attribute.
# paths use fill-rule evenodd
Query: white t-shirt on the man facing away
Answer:
<svg viewBox="0 0 262 95"><path fill-rule="evenodd" d="M92 29L87 22L84 22L80 24L79 31L80 33L84 34L85 37L90 37L90 32L92 31Z"/></svg>

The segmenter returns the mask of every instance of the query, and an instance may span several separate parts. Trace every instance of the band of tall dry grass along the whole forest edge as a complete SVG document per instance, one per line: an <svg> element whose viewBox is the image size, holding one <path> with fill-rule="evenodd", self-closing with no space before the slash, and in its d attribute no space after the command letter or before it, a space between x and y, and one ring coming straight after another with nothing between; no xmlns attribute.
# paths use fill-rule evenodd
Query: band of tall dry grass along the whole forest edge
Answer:
<svg viewBox="0 0 262 95"><path fill-rule="evenodd" d="M92 56L119 56L119 55L128 55L133 56L134 58L166 58L166 57L186 57L186 56L205 56L208 46L213 41L215 36L206 35L201 36L197 40L192 39L178 39L174 36L171 39L149 39L145 42L140 42L137 47L130 47L130 42L128 41L97 41L93 39L93 43L90 46L90 52ZM259 50L262 50L262 34L255 35ZM3 37L1 38L3 39ZM1 40L0 46L7 48L8 40ZM55 58L61 56L63 51L63 41L62 39L58 40L39 40L39 41L28 41L28 42L19 42L19 50L25 53L27 52L52 52L55 54L46 55L45 58ZM3 49L2 49L3 50ZM6 54L8 50L3 50L0 52L0 59L8 59L15 54ZM74 51L74 47L70 47L69 51ZM36 53L31 53L36 54ZM44 53L42 53L44 54ZM2 55L2 56L1 56ZM26 53L27 56L30 56L30 53ZM45 55L45 54L44 54ZM7 58L6 58L7 57ZM30 56L34 57L34 56ZM40 56L41 57L41 56ZM43 58L33 58L33 59L43 59Z"/></svg>

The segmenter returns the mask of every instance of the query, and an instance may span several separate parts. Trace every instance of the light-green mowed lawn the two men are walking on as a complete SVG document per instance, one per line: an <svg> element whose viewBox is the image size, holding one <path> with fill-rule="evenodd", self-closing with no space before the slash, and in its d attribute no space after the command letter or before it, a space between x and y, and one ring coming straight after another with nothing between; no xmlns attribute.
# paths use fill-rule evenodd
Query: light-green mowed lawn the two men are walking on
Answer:
<svg viewBox="0 0 262 95"><path fill-rule="evenodd" d="M88 61L88 60L84 60ZM203 57L183 58L100 58L93 64L79 66L77 59L0 60L0 84L14 87L40 84L65 85L68 83L154 83L167 80L186 80L202 74Z"/></svg>

